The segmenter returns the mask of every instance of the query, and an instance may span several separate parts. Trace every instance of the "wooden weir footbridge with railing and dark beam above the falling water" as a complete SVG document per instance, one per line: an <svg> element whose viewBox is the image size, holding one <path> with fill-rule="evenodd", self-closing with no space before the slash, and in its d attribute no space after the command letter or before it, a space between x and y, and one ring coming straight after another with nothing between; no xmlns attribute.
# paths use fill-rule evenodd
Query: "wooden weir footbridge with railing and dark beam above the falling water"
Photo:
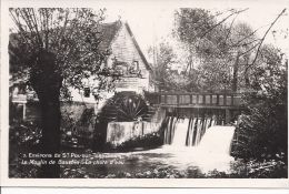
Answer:
<svg viewBox="0 0 289 194"><path fill-rule="evenodd" d="M230 123L245 110L241 93L186 93L176 91L160 93L146 92L144 95L152 106L175 112L175 115L176 113L177 115L181 113L190 118L191 114L196 116L196 112L197 114L215 114L218 116L218 124Z"/></svg>

